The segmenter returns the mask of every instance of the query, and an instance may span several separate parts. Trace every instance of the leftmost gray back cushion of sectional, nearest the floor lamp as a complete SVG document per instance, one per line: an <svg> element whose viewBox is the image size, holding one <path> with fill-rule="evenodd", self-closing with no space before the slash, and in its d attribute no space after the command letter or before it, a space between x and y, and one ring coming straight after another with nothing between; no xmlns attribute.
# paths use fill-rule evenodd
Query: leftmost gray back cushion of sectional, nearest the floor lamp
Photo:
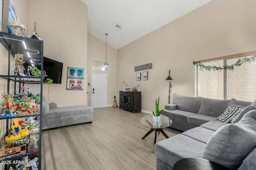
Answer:
<svg viewBox="0 0 256 170"><path fill-rule="evenodd" d="M197 113L201 106L202 97L189 97L173 94L172 103L176 104L179 110Z"/></svg>

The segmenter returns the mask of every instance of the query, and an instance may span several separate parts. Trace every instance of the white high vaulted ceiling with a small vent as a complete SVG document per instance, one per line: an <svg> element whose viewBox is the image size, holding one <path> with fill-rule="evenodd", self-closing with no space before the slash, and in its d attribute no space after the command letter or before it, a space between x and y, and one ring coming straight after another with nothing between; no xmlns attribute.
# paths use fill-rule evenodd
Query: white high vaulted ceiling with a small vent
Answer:
<svg viewBox="0 0 256 170"><path fill-rule="evenodd" d="M211 0L80 0L88 32L119 49ZM121 28L116 28L119 25Z"/></svg>

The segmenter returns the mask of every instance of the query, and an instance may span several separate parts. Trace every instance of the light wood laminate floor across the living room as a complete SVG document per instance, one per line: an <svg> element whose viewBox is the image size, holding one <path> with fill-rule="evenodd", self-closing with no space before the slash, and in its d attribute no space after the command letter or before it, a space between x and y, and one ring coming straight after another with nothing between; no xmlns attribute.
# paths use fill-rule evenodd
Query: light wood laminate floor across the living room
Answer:
<svg viewBox="0 0 256 170"><path fill-rule="evenodd" d="M42 170L156 170L154 133L140 123L146 113L95 108L92 123L42 131ZM172 137L181 131L165 128ZM157 141L166 139L161 133Z"/></svg>

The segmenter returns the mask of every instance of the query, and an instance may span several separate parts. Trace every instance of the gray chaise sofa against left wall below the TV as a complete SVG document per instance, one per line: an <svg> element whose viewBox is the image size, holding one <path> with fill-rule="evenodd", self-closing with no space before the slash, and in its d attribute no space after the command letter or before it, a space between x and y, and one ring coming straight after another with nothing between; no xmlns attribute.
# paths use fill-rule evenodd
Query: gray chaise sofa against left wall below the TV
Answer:
<svg viewBox="0 0 256 170"><path fill-rule="evenodd" d="M92 123L93 113L94 109L89 106L57 107L55 103L48 104L43 97L42 129L52 129L79 123Z"/></svg>

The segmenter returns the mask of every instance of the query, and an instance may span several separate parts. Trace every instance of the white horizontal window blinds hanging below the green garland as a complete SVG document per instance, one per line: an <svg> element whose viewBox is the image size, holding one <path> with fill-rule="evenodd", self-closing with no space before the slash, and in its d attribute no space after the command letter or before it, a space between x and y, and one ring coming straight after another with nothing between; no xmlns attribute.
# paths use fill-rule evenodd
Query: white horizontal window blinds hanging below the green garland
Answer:
<svg viewBox="0 0 256 170"><path fill-rule="evenodd" d="M222 59L202 64L223 66L234 64L238 59ZM208 71L195 66L195 96L254 101L256 99L256 61L236 66L234 70Z"/></svg>

